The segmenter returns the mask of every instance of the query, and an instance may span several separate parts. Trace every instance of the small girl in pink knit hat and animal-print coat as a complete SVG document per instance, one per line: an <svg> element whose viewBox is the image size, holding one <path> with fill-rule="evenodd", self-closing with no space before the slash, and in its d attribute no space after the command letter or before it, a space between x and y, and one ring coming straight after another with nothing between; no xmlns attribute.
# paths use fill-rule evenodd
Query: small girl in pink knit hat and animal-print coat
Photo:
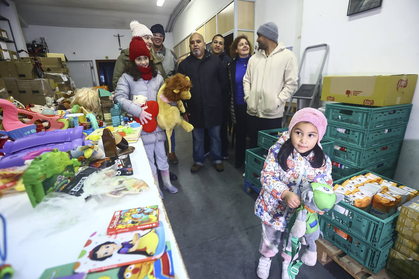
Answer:
<svg viewBox="0 0 419 279"><path fill-rule="evenodd" d="M256 270L261 279L269 276L271 258L278 253L282 232L300 207L301 193L310 189L312 182L333 183L331 160L320 144L326 126L327 120L319 110L303 108L292 117L289 130L269 148L255 203L255 214L262 220L262 255ZM283 251L282 257L282 279L288 279L291 256Z"/></svg>

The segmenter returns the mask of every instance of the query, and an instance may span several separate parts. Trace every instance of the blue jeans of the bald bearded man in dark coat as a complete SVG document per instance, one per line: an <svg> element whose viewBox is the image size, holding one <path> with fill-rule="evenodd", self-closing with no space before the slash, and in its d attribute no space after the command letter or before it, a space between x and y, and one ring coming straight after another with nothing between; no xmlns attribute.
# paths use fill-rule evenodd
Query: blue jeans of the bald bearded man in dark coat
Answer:
<svg viewBox="0 0 419 279"><path fill-rule="evenodd" d="M222 163L220 128L221 125L207 128L211 140L209 156L211 156L214 164ZM204 128L194 128L192 130L192 146L194 148L192 154L194 163L203 166L205 163Z"/></svg>

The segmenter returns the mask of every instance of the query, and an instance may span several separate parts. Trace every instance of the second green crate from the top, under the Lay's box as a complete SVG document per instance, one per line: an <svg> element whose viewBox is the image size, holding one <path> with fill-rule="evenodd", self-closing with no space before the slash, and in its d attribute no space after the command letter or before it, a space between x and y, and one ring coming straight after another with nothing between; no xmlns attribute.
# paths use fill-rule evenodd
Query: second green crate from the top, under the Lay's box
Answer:
<svg viewBox="0 0 419 279"><path fill-rule="evenodd" d="M370 149L385 145L389 142L402 141L406 133L407 124L390 128L379 128L367 131L362 128L343 128L345 133L338 130L341 125L327 124L326 139L335 141L338 145L349 145L355 148Z"/></svg>

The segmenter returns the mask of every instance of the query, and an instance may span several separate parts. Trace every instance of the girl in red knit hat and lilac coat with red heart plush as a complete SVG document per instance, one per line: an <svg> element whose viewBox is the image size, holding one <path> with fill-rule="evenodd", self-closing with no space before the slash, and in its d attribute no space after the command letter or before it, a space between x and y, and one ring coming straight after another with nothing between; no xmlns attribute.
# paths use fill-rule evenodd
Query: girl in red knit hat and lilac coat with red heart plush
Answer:
<svg viewBox="0 0 419 279"><path fill-rule="evenodd" d="M125 112L139 118L140 123L143 125L141 138L157 186L158 168L163 180L163 187L171 193L176 193L178 192L178 189L170 182L169 164L167 163L167 156L164 148L166 132L157 125L153 125L155 124L155 117L158 113L156 102L157 93L163 85L164 80L153 61L150 60L150 51L147 49L144 40L140 36L132 37L132 41L129 44L129 60L131 63L128 64L124 74L119 78L114 100L115 102L121 103L122 109ZM140 95L142 96L142 99L145 100L143 107L137 105L133 101L134 99L137 100ZM145 128L146 126L153 126L155 129L148 129L150 127ZM154 164L154 156L157 168ZM161 192L160 187L158 188L160 195L163 198L163 193Z"/></svg>

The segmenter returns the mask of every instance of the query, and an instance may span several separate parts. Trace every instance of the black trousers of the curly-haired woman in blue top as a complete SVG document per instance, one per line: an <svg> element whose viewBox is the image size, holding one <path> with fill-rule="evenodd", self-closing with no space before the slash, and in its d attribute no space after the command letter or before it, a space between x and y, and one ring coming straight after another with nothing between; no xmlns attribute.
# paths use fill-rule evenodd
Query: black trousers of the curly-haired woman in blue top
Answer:
<svg viewBox="0 0 419 279"><path fill-rule="evenodd" d="M233 126L235 131L235 153L236 161L244 163L246 156L246 137L247 137L247 105L235 105L236 122Z"/></svg>

